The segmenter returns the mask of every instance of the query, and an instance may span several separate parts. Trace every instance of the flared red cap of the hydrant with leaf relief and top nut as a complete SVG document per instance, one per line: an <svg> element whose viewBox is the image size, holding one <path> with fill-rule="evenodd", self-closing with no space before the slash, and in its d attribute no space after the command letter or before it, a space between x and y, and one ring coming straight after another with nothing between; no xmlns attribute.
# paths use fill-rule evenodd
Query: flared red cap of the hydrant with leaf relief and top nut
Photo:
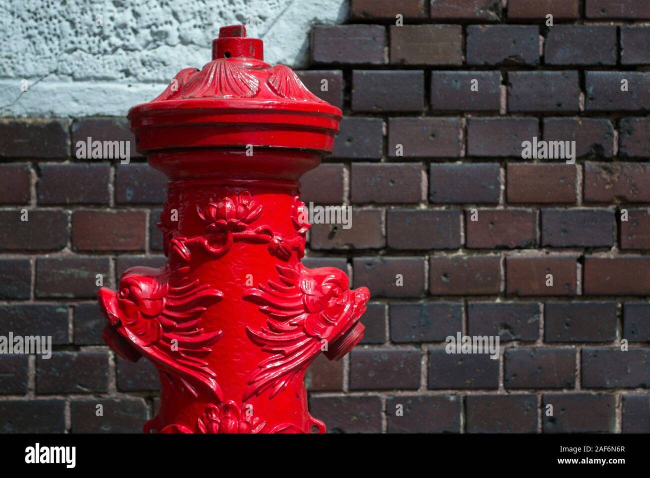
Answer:
<svg viewBox="0 0 650 478"><path fill-rule="evenodd" d="M145 154L249 145L328 154L341 110L309 92L288 66L264 62L262 40L235 25L220 29L211 62L181 70L128 118Z"/></svg>

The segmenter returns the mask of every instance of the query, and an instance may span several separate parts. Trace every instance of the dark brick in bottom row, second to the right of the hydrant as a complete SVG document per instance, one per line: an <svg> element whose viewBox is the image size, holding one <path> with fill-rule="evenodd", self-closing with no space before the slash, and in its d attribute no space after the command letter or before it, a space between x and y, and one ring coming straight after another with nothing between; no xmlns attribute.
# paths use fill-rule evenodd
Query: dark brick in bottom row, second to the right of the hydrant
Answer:
<svg viewBox="0 0 650 478"><path fill-rule="evenodd" d="M456 395L388 397L388 432L460 433L460 406Z"/></svg>

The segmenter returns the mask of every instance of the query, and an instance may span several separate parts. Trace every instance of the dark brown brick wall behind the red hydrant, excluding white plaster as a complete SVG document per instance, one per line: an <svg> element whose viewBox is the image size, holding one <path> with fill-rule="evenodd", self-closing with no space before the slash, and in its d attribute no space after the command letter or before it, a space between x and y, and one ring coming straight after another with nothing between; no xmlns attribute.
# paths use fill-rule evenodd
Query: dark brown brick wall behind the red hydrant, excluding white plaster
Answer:
<svg viewBox="0 0 650 478"><path fill-rule="evenodd" d="M303 199L353 218L315 224L305 263L372 293L363 345L306 377L330 431L650 432L647 25L644 0L352 0L313 29L300 76L345 118ZM140 431L157 405L153 366L102 345L94 277L164 263L165 181L77 160L88 136L130 138L121 118L0 123L0 331L56 344L0 355L0 431ZM532 137L575 140L575 165L522 159ZM499 360L447 354L459 331L498 335Z"/></svg>

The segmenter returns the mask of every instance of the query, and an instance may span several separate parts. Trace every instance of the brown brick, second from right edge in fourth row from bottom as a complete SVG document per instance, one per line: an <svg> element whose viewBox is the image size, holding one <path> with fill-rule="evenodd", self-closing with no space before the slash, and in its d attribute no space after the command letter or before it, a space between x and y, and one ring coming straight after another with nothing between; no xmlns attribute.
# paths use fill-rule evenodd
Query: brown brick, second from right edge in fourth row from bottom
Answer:
<svg viewBox="0 0 650 478"><path fill-rule="evenodd" d="M506 258L506 294L575 295L576 259L571 257ZM553 285L547 286L547 274Z"/></svg>

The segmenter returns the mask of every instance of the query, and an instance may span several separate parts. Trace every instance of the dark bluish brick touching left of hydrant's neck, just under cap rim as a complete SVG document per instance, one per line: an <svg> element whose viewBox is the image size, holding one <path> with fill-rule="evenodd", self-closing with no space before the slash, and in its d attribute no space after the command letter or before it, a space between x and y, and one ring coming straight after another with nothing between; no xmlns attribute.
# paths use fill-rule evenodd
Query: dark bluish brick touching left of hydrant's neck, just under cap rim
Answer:
<svg viewBox="0 0 650 478"><path fill-rule="evenodd" d="M159 204L167 199L167 177L146 163L116 166L117 204Z"/></svg>

